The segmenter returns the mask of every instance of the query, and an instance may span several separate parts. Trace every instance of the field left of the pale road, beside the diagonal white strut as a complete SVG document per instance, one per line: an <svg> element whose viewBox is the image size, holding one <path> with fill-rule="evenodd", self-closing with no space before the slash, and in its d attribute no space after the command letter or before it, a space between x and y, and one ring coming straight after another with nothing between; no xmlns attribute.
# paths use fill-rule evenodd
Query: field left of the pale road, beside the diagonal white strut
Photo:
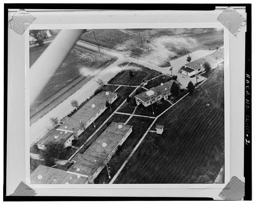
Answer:
<svg viewBox="0 0 256 205"><path fill-rule="evenodd" d="M67 59L52 76L47 87L30 106L30 117L40 112L31 120L31 123L44 116L49 110L81 88L92 77L102 71L107 62L109 64L113 60L105 61L95 53L74 47Z"/></svg>

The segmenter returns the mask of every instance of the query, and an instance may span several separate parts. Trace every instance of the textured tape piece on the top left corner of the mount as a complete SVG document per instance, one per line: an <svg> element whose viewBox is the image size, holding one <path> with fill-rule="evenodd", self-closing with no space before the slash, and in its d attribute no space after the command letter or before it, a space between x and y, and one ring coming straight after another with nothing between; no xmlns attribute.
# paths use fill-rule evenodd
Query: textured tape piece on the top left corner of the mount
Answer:
<svg viewBox="0 0 256 205"><path fill-rule="evenodd" d="M8 26L15 33L22 35L28 26L35 20L35 17L24 9L18 10L8 22Z"/></svg>

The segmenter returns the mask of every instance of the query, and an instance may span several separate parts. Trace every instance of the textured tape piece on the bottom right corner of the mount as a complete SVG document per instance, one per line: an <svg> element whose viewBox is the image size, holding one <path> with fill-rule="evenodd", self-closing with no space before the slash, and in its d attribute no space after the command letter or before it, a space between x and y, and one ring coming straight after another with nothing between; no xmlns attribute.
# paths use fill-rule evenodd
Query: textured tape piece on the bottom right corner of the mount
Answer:
<svg viewBox="0 0 256 205"><path fill-rule="evenodd" d="M233 176L219 196L224 200L241 200L244 197L244 182Z"/></svg>

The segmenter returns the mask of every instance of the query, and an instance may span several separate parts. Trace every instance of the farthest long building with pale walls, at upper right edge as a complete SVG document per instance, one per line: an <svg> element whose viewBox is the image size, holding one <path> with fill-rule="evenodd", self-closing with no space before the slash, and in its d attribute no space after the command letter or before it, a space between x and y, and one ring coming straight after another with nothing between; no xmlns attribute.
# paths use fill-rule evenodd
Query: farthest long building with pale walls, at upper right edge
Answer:
<svg viewBox="0 0 256 205"><path fill-rule="evenodd" d="M204 63L210 63L212 69L216 68L219 63L224 61L223 49L219 49L210 55L206 55L200 59L187 63L181 68L181 73L189 77L204 71Z"/></svg>

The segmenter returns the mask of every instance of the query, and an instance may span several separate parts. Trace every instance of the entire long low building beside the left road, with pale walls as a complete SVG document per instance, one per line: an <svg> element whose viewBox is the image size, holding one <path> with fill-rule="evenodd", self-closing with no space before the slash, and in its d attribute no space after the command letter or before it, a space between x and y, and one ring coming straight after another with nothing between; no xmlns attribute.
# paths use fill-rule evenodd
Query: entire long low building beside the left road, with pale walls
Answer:
<svg viewBox="0 0 256 205"><path fill-rule="evenodd" d="M64 147L71 146L72 140L79 138L80 134L107 109L106 102L112 104L116 99L117 93L98 93L72 116L64 118L56 129L53 128L38 140L38 149L44 150L46 142L49 141L61 142Z"/></svg>

